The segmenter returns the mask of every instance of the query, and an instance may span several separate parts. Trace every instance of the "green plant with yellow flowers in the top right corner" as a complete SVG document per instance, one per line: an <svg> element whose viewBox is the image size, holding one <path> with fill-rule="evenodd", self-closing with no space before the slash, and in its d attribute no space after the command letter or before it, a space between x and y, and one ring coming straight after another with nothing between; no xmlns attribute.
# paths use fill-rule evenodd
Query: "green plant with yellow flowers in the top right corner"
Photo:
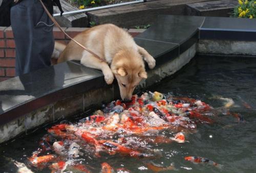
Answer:
<svg viewBox="0 0 256 173"><path fill-rule="evenodd" d="M234 8L232 16L239 18L256 18L255 0L238 0L239 5Z"/></svg>

